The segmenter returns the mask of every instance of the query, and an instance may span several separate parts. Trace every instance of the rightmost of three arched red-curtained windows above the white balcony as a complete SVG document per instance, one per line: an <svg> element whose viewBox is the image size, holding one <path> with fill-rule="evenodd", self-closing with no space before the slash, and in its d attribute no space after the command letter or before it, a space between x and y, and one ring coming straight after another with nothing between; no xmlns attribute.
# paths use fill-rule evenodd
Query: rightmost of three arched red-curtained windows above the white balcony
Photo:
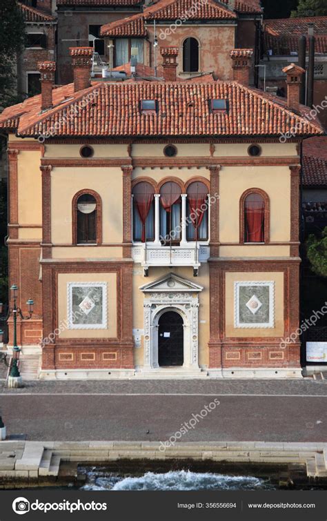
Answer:
<svg viewBox="0 0 327 521"><path fill-rule="evenodd" d="M188 241L208 240L208 188L201 181L195 181L186 190Z"/></svg>

